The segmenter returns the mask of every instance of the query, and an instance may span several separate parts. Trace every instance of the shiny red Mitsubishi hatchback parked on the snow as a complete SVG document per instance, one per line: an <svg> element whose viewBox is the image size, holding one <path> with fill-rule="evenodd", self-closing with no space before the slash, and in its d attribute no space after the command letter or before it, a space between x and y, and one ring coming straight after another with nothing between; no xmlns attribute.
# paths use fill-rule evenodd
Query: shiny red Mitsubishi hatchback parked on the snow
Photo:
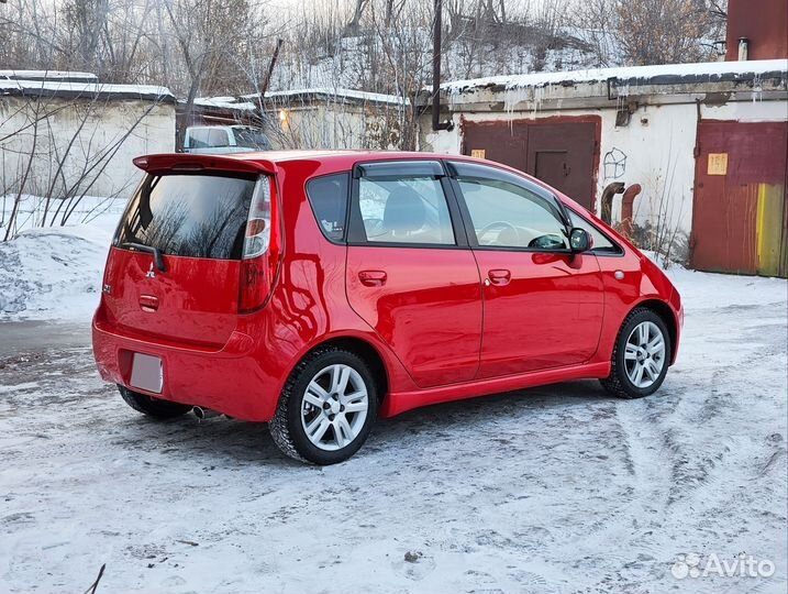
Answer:
<svg viewBox="0 0 788 594"><path fill-rule="evenodd" d="M93 351L151 417L268 422L286 454L331 464L378 415L576 378L646 396L676 359L665 275L509 167L366 152L134 163Z"/></svg>

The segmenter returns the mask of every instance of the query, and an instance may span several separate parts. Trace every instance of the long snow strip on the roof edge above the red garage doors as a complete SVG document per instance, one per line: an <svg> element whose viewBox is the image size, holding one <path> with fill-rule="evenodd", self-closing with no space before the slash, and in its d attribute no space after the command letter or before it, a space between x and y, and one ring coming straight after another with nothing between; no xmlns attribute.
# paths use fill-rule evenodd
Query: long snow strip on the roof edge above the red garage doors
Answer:
<svg viewBox="0 0 788 594"><path fill-rule="evenodd" d="M622 82L676 84L709 80L752 79L766 73L788 73L787 59L759 59L748 62L706 62L699 64L661 64L656 66L623 66L618 68L590 68L558 73L531 73L509 76L490 76L470 80L455 80L441 85L448 94L462 94L482 88L495 90L524 87L573 86L582 82L600 82L617 79ZM424 90L431 91L425 87Z"/></svg>

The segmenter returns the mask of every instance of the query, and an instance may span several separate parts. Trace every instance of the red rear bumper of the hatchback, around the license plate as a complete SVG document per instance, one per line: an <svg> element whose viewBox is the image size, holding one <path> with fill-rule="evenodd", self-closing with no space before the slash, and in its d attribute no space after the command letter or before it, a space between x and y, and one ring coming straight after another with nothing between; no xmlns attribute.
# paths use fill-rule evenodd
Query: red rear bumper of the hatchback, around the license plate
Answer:
<svg viewBox="0 0 788 594"><path fill-rule="evenodd" d="M274 416L278 391L255 356L255 341L244 332L234 331L220 350L211 350L121 331L98 314L92 338L96 364L107 382L243 420L268 421ZM130 385L133 353L162 360L160 393Z"/></svg>

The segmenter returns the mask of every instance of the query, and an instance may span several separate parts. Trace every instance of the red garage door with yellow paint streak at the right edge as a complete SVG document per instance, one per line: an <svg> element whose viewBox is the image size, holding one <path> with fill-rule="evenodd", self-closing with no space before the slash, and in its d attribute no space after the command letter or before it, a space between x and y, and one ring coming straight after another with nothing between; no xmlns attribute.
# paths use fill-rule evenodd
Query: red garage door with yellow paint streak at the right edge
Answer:
<svg viewBox="0 0 788 594"><path fill-rule="evenodd" d="M788 122L703 121L692 205L692 266L786 276Z"/></svg>

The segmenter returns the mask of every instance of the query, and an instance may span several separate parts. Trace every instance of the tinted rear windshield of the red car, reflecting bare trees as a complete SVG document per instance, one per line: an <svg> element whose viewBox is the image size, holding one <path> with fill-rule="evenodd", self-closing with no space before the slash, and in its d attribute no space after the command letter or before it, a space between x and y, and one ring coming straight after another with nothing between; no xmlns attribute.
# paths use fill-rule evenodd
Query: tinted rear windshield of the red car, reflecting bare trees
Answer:
<svg viewBox="0 0 788 594"><path fill-rule="evenodd" d="M115 245L164 254L241 260L255 179L148 175L129 202Z"/></svg>

